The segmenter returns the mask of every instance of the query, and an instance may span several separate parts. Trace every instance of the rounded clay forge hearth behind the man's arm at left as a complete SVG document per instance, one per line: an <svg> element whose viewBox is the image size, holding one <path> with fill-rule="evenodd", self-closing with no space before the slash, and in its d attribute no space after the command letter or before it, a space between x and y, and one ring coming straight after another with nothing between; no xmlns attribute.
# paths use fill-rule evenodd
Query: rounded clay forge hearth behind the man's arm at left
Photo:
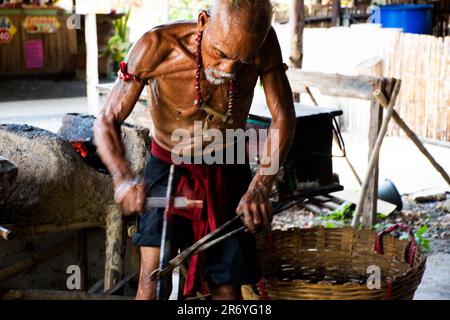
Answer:
<svg viewBox="0 0 450 320"><path fill-rule="evenodd" d="M92 134L94 120L67 115L59 134L26 125L0 125L0 155L17 167L15 182L0 188L0 224L105 223L114 203L113 185L108 174L99 172L102 163ZM122 136L132 170L142 174L148 131L123 126ZM77 153L74 141L89 143L90 159Z"/></svg>

